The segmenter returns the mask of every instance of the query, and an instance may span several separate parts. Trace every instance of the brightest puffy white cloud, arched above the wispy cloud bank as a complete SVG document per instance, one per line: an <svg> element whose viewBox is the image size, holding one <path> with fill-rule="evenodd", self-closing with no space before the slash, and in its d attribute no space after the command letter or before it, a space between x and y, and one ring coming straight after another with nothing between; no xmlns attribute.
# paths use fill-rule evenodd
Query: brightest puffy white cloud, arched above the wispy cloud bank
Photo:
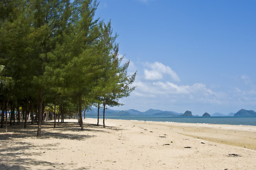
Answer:
<svg viewBox="0 0 256 170"><path fill-rule="evenodd" d="M145 63L145 67L148 67L148 69L144 69L145 79L147 80L160 80L163 78L164 74L167 74L172 78L172 80L180 81L176 72L174 72L170 67L165 66L165 64L160 62Z"/></svg>

